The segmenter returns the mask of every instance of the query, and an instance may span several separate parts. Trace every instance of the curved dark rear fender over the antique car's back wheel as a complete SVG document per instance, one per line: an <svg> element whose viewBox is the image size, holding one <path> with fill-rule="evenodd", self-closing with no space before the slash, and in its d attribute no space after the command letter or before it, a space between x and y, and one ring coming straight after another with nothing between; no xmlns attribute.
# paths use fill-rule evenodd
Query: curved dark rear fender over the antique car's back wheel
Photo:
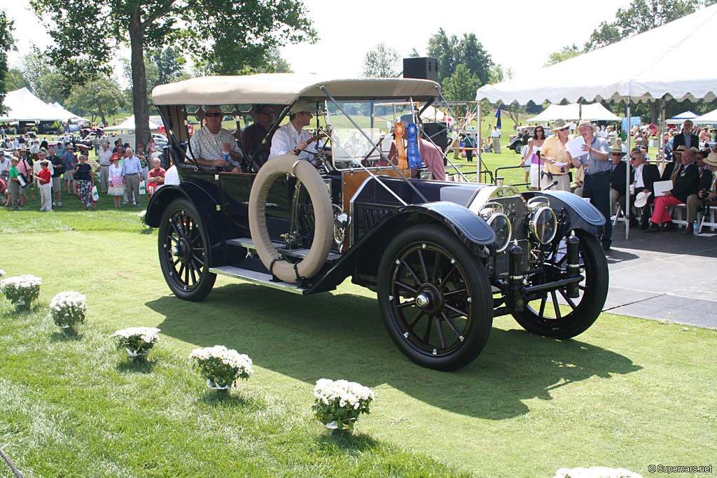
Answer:
<svg viewBox="0 0 717 478"><path fill-rule="evenodd" d="M227 249L224 229L229 220L226 214L217 211L218 203L212 194L198 183L183 181L179 186L168 184L159 188L147 206L146 224L150 227L158 227L164 211L175 199L186 199L194 204L201 215L206 237L209 238L209 247L212 249L209 265L224 265L226 262L224 253Z"/></svg>

